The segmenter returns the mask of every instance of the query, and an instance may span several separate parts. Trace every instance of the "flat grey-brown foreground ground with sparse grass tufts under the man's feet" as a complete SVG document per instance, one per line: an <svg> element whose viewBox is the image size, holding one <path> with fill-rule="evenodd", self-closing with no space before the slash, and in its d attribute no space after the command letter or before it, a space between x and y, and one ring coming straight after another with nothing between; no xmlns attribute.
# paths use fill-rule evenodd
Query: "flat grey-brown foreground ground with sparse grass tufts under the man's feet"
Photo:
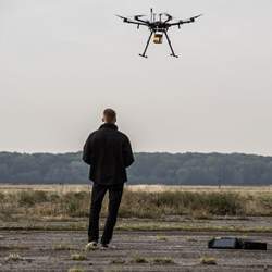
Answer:
<svg viewBox="0 0 272 272"><path fill-rule="evenodd" d="M211 237L224 235L230 234L116 232L112 243L116 246L115 249L86 252L86 232L83 231L0 231L0 271L69 271L73 268L77 268L77 271L106 272L272 271L271 233L248 234L250 238L268 242L267 251L207 248L207 242ZM242 233L231 235L243 236ZM11 254L14 254L13 260ZM74 254L86 255L86 259L73 260ZM201 264L202 257L214 258L217 264Z"/></svg>

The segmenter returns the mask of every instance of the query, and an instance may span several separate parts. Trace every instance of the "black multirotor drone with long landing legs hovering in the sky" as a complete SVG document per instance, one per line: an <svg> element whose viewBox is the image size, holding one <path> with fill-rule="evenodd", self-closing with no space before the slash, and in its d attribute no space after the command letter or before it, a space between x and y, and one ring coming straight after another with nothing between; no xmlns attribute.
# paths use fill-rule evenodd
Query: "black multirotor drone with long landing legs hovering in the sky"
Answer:
<svg viewBox="0 0 272 272"><path fill-rule="evenodd" d="M159 15L159 17L157 17L157 15ZM174 17L168 13L160 13L160 14L153 13L153 9L150 9L150 20L145 20L144 17L146 15L135 15L133 16L133 18L128 18L128 17L124 17L120 15L116 15L116 16L122 18L124 23L137 25L138 29L140 26L146 26L149 28L150 35L148 37L147 45L145 47L144 52L139 54L140 57L147 58L146 53L147 53L147 49L148 49L148 46L150 44L152 36L153 36L154 44L162 44L163 36L165 36L169 47L171 49L170 55L174 58L178 58L178 55L176 55L174 52L170 37L168 35L169 28L172 26L177 26L180 29L183 24L194 23L196 18L202 16L202 14L190 17L188 20L180 20L177 22L173 22Z"/></svg>

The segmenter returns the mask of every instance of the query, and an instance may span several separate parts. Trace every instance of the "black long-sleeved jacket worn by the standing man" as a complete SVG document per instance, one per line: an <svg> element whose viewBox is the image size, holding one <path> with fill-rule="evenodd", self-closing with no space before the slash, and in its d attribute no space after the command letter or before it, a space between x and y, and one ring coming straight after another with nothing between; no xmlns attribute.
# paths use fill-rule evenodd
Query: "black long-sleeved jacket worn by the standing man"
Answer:
<svg viewBox="0 0 272 272"><path fill-rule="evenodd" d="M90 165L89 178L101 185L127 181L126 168L134 162L128 137L114 124L103 124L84 146L83 160Z"/></svg>

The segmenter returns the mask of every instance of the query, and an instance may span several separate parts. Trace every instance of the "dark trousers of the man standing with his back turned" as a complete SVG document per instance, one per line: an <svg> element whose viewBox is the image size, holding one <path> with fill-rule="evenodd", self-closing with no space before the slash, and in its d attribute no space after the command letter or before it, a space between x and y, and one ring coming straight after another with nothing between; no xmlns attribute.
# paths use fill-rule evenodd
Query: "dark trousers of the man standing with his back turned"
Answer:
<svg viewBox="0 0 272 272"><path fill-rule="evenodd" d="M118 219L118 211L121 203L123 195L124 184L116 185L100 185L94 183L91 190L91 202L90 202L90 214L89 214L89 230L88 238L89 242L98 242L99 239L99 214L101 211L102 201L107 190L109 190L109 207L108 207L108 218L106 220L103 235L101 237L101 244L109 244L113 228Z"/></svg>

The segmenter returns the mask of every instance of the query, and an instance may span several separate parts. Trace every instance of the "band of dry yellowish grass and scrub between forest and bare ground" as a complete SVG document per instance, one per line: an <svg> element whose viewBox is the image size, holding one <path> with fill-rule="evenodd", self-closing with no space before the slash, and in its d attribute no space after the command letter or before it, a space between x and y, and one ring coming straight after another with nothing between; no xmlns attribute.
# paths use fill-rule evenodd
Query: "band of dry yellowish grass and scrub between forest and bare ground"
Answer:
<svg viewBox="0 0 272 272"><path fill-rule="evenodd" d="M87 218L87 185L0 186L0 220ZM108 198L102 207L107 215ZM272 187L128 186L119 212L121 218L163 219L188 215L272 215Z"/></svg>

